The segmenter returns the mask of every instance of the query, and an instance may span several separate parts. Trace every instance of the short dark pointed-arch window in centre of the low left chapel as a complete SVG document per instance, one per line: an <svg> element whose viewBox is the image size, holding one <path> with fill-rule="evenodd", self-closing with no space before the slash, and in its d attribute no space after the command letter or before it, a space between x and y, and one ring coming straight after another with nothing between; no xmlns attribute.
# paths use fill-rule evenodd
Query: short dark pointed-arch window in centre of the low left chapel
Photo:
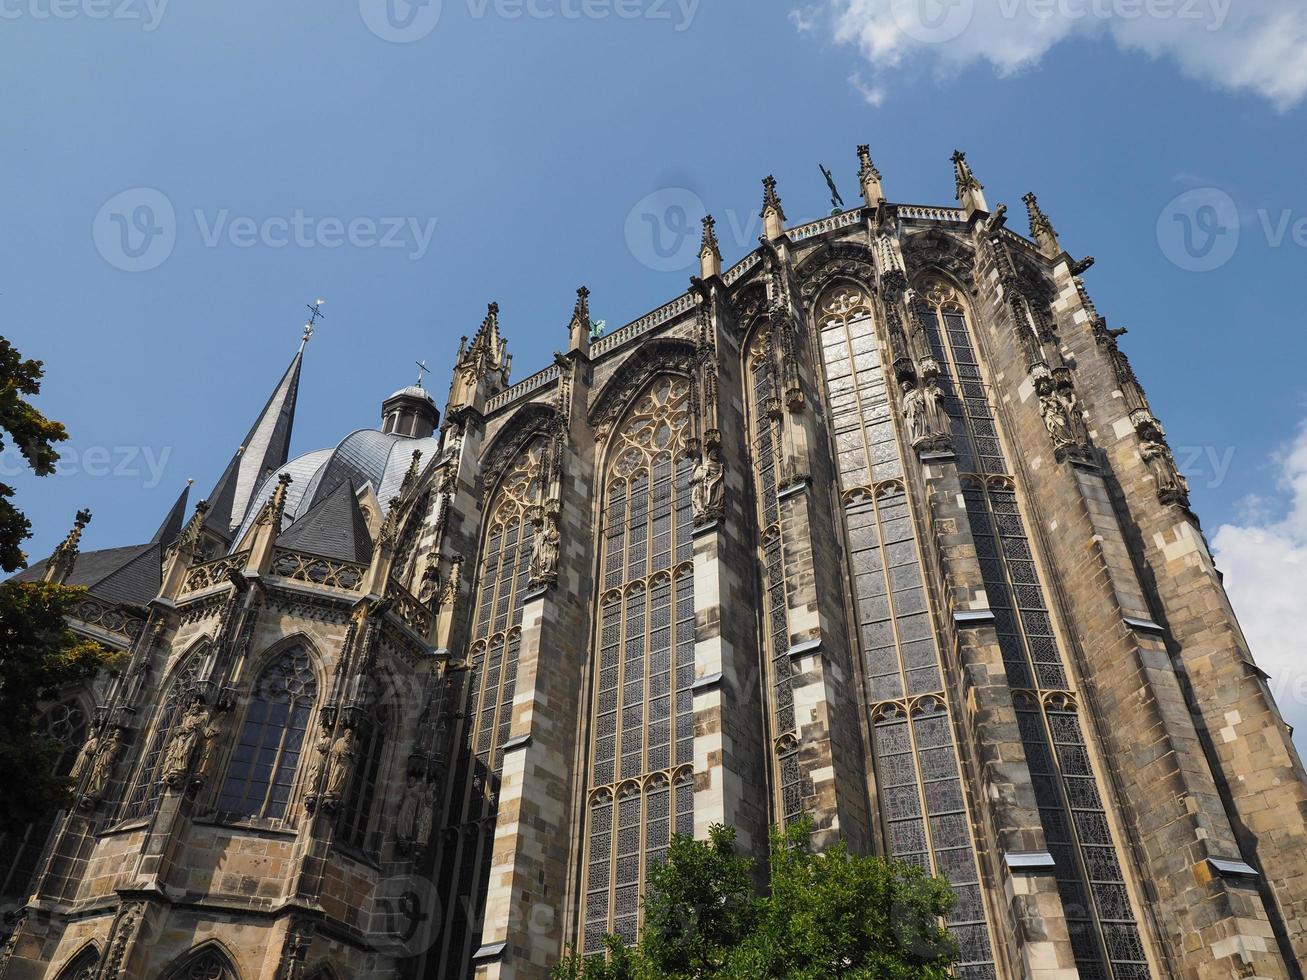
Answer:
<svg viewBox="0 0 1307 980"><path fill-rule="evenodd" d="M263 669L218 794L221 813L286 815L316 699L318 678L303 645L284 649Z"/></svg>

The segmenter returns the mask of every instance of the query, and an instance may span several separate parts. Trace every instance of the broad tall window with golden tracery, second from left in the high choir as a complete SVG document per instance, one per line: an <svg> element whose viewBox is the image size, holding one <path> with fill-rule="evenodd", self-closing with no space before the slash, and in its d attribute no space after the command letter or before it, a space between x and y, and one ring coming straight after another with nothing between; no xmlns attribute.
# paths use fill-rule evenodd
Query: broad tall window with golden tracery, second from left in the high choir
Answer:
<svg viewBox="0 0 1307 980"><path fill-rule="evenodd" d="M634 942L650 865L694 830L689 383L663 376L608 451L582 943Z"/></svg>

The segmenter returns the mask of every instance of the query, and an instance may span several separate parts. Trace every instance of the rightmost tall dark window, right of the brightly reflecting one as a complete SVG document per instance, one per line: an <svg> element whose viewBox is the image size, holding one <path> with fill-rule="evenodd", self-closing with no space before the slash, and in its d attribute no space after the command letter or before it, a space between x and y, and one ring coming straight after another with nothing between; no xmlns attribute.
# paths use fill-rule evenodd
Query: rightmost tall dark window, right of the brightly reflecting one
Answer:
<svg viewBox="0 0 1307 980"><path fill-rule="evenodd" d="M972 472L963 477L963 502L1008 682L1016 689L1018 728L1057 865L1076 966L1085 977L1142 980L1149 976L1144 945L966 316L944 285L921 295L918 316L941 366L958 465Z"/></svg>

